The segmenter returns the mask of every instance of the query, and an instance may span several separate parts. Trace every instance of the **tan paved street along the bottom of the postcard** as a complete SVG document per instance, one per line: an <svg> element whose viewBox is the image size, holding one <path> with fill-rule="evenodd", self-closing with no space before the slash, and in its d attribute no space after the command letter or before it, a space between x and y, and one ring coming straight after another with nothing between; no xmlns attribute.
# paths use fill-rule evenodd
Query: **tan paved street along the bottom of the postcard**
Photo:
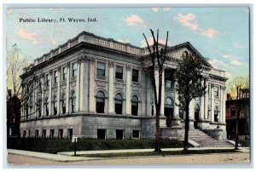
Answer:
<svg viewBox="0 0 256 172"><path fill-rule="evenodd" d="M100 160L87 160L76 162L55 162L40 158L30 158L20 155L9 154L8 162L15 165L125 165L125 164L182 164L182 163L249 163L248 152L214 153L201 155L182 155L166 157L143 157L143 158L108 158Z"/></svg>

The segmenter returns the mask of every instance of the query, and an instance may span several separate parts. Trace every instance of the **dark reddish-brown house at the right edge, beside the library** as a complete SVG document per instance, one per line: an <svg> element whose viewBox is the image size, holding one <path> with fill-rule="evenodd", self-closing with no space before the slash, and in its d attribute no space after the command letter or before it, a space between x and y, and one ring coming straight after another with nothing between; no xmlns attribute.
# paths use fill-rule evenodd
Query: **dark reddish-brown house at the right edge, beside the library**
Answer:
<svg viewBox="0 0 256 172"><path fill-rule="evenodd" d="M238 108L240 109L238 118L239 139L248 139L250 135L250 99L248 94L241 96L239 100L232 100L228 94L228 100L226 100L227 136L228 139L236 138Z"/></svg>

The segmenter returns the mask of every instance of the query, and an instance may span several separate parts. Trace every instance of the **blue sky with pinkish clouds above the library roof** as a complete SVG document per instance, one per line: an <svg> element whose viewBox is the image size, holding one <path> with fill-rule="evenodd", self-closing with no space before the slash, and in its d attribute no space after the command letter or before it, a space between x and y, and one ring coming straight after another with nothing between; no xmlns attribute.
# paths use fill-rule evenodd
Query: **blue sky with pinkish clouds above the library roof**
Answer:
<svg viewBox="0 0 256 172"><path fill-rule="evenodd" d="M212 66L226 71L230 80L249 75L249 11L242 7L126 8L126 9L9 9L7 51L16 43L29 60L66 43L79 32L145 45L149 29L160 29L169 45L190 42ZM22 19L96 18L97 22L38 23Z"/></svg>

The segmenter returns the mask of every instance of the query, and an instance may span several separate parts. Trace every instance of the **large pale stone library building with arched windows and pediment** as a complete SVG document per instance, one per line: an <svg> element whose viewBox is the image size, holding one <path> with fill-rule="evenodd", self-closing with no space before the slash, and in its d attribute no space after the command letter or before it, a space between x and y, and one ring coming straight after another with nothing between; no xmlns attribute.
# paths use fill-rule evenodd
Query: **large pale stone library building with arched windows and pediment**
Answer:
<svg viewBox="0 0 256 172"><path fill-rule="evenodd" d="M160 127L184 128L185 115L176 104L174 73L180 57L191 53L203 61L203 75L208 79L204 83L207 94L189 105L190 129L219 127L226 135L225 72L213 68L190 43L167 47L166 52ZM29 89L26 83L32 75L44 83L21 109L21 136L154 138L154 94L145 73L149 66L147 48L79 33L34 60L20 76L23 89Z"/></svg>

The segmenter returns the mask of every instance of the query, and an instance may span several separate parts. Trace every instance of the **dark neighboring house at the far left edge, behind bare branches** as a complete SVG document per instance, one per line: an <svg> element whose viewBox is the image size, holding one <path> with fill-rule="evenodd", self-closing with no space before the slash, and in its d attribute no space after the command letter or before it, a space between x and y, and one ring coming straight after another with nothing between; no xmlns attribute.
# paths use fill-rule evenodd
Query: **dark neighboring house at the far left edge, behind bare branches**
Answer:
<svg viewBox="0 0 256 172"><path fill-rule="evenodd" d="M11 95L10 89L8 92L6 100L7 136L17 137L20 134L20 99Z"/></svg>

